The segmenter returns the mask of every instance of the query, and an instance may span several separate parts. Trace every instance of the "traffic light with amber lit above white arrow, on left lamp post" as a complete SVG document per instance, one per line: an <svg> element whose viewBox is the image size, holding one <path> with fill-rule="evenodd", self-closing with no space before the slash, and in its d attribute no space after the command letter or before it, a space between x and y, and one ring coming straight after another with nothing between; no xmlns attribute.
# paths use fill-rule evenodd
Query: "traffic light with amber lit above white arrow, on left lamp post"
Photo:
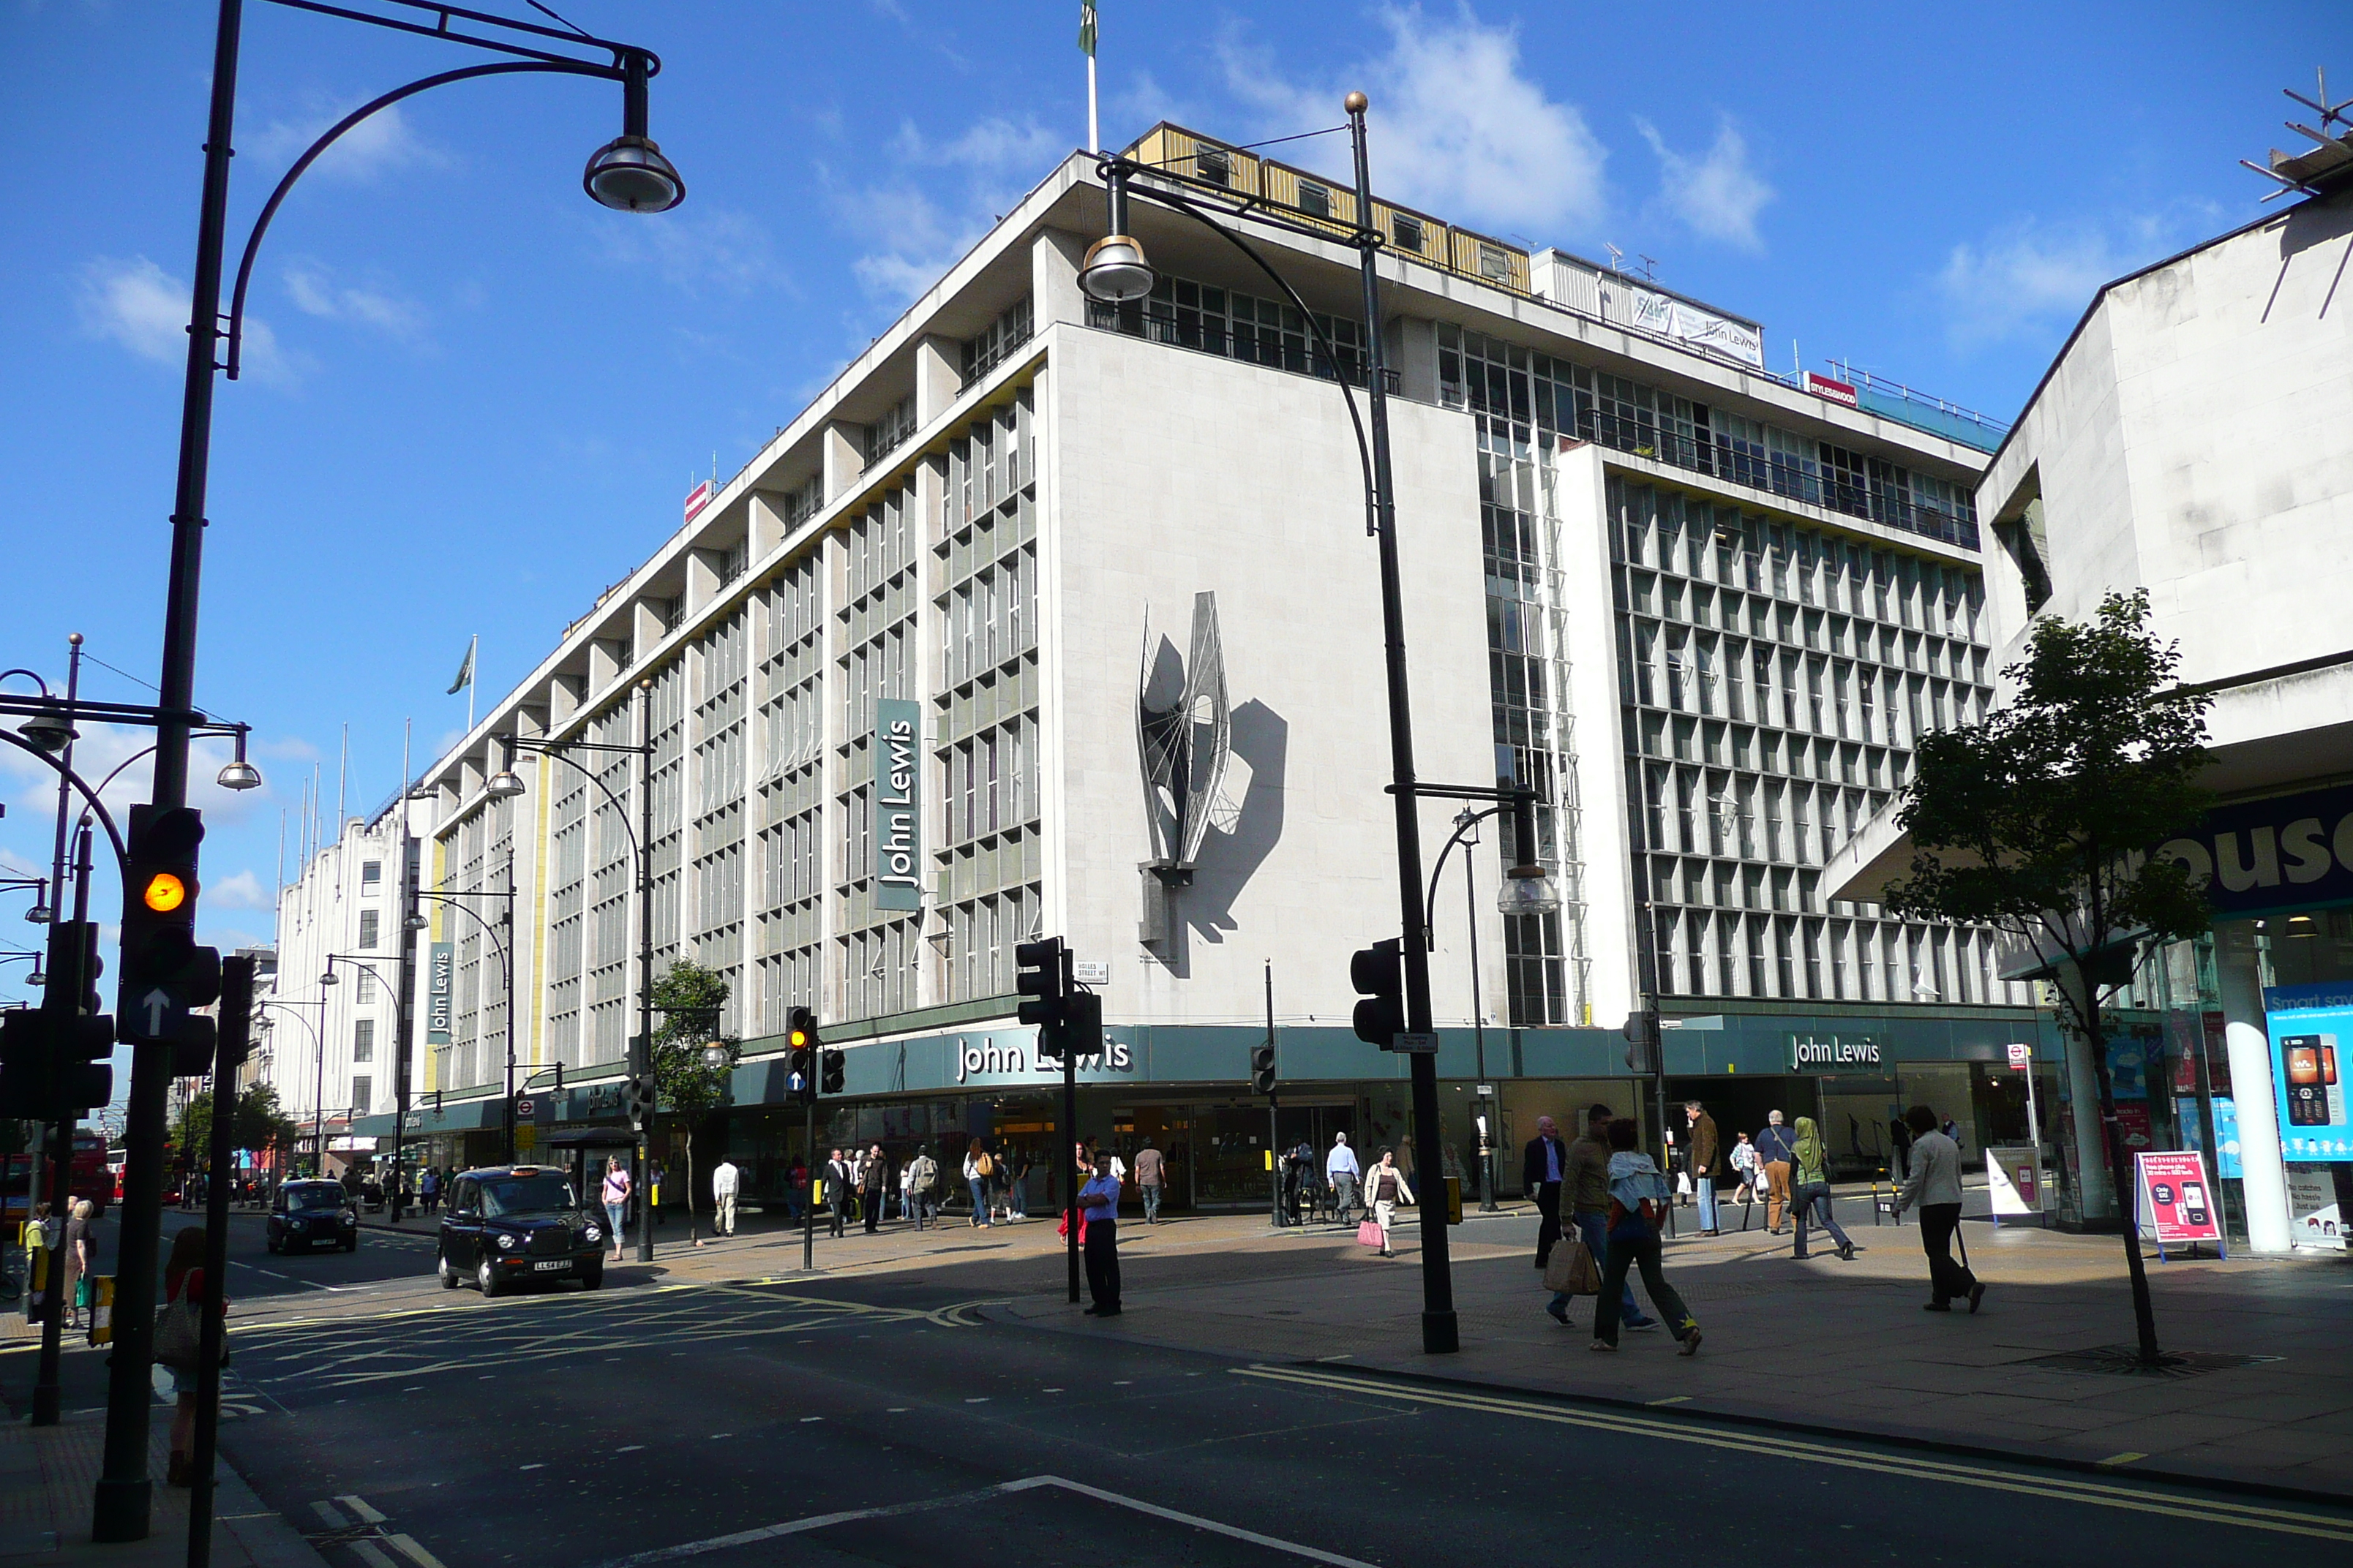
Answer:
<svg viewBox="0 0 2353 1568"><path fill-rule="evenodd" d="M132 806L122 863L122 1039L172 1046L179 1077L212 1072L214 1023L195 1013L221 994L221 954L195 945L195 851L205 816Z"/></svg>

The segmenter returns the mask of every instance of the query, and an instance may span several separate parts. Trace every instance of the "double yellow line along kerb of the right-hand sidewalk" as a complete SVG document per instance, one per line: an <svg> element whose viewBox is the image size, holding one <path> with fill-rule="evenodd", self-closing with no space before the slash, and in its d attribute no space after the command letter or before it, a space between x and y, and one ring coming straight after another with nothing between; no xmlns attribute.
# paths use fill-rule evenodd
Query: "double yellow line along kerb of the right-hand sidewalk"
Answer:
<svg viewBox="0 0 2353 1568"><path fill-rule="evenodd" d="M1647 1436L1668 1443L1692 1443L1699 1448L1727 1448L1732 1453L1739 1453L1741 1458L1758 1455L1758 1443L1753 1432L1741 1434L1729 1429L1711 1429L1687 1420L1661 1420L1654 1415L1635 1415L1631 1410L1574 1408L1574 1406L1544 1403L1534 1399L1482 1394L1478 1389L1440 1389L1428 1385L1391 1382L1384 1378L1362 1378L1339 1371L1320 1371L1301 1366L1261 1363L1261 1366L1235 1366L1228 1371L1240 1378L1289 1382L1294 1387L1322 1389L1327 1394L1398 1399L1405 1403L1440 1406L1447 1410L1478 1410L1482 1415L1515 1415L1520 1420L1541 1420L1541 1422L1553 1422L1558 1427L1588 1427L1593 1432L1612 1432L1619 1436ZM1840 1469L1868 1469L1882 1476L1941 1481L1946 1486L1974 1486L1981 1490L2017 1493L2021 1497L2040 1497L2047 1502L2078 1502L2087 1507L2129 1509L2134 1514L2162 1514L2167 1519L2195 1519L2202 1523L2242 1526L2249 1530L2271 1530L2275 1535L2308 1535L2315 1540L2353 1542L2353 1516L2334 1519L2329 1514L2306 1514L2287 1507L2228 1502L2214 1495L2200 1495L2195 1500L2167 1497L2162 1493L2134 1486L2113 1486L2104 1481L2075 1479L2066 1472L2017 1472L2017 1469L2000 1469L1995 1465L1937 1460L1901 1450L1875 1453L1868 1448L1845 1448L1838 1443L1809 1441L1795 1434L1788 1436L1777 1434L1772 1453L1814 1465L1838 1465Z"/></svg>

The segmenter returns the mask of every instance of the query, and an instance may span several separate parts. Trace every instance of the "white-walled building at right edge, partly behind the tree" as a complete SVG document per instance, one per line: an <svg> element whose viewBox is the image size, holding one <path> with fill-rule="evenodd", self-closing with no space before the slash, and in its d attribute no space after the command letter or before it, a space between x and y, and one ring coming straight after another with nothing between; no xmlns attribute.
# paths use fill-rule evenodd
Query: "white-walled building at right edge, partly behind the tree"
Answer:
<svg viewBox="0 0 2353 1568"><path fill-rule="evenodd" d="M2341 129L2344 115L2329 129ZM2151 961L2148 1027L2113 1046L2125 1138L2212 1147L2257 1251L2341 1251L2353 1213L2353 139L2273 167L2301 200L2099 289L1979 487L2000 548L1995 665L2035 616L2146 588L2207 715L2224 804L2165 853L2219 919ZM1908 863L1889 825L1833 867L1868 898ZM2341 1041L2341 1044L2339 1044ZM2085 1091L2061 1152L2115 1215ZM2205 1058L2205 1084L2200 1084ZM2068 1105L2068 1112L2075 1107Z"/></svg>

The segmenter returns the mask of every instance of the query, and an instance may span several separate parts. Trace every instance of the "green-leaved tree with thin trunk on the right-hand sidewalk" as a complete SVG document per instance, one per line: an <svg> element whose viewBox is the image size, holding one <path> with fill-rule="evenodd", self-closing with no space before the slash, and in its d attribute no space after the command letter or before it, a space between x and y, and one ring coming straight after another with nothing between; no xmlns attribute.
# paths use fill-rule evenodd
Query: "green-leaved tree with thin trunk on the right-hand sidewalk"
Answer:
<svg viewBox="0 0 2353 1568"><path fill-rule="evenodd" d="M2146 590L2111 592L2082 625L2035 621L2026 656L2002 670L2009 701L1920 738L1897 816L1911 875L1882 893L1899 917L1995 926L2052 976L2061 1025L2092 1053L2146 1363L2160 1361L2158 1324L2101 1009L2137 954L2212 922L2188 867L2155 853L2212 804L2198 788L2212 698L2184 689L2179 665L2179 644L2148 630Z"/></svg>

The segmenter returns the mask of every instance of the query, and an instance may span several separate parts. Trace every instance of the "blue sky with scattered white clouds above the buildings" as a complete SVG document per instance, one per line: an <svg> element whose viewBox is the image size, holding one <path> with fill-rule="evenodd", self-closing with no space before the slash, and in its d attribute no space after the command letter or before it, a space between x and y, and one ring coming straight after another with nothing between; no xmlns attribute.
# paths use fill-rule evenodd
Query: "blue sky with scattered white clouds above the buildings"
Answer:
<svg viewBox="0 0 2353 1568"><path fill-rule="evenodd" d="M489 0L475 0L494 9ZM529 16L520 0L515 14ZM445 87L296 188L224 383L198 701L256 726L268 790L212 792L205 926L266 940L280 816L318 769L353 811L464 724L466 639L504 689L906 299L1085 136L1075 0L560 5L654 47L661 219L579 188L619 129L581 80ZM1673 21L1668 21L1668 16ZM0 665L96 696L155 677L165 515L212 7L0 0L14 301L0 376ZM2104 277L2247 221L2235 167L2289 136L2280 87L2353 87L2339 2L1101 5L1104 136L1226 139L1372 94L1374 183L1659 280L1791 341L2009 416ZM416 75L475 63L249 0L235 235L301 146ZM1294 148L1332 165L1337 141ZM94 736L113 766L139 741ZM214 759L216 766L219 759ZM209 776L209 769L205 769ZM141 769L115 797L136 799ZM49 804L0 757L0 865L47 863ZM289 827L292 839L296 830ZM292 856L292 851L289 851ZM101 905L111 905L101 896ZM0 947L26 931L0 905ZM24 964L0 964L0 997Z"/></svg>

